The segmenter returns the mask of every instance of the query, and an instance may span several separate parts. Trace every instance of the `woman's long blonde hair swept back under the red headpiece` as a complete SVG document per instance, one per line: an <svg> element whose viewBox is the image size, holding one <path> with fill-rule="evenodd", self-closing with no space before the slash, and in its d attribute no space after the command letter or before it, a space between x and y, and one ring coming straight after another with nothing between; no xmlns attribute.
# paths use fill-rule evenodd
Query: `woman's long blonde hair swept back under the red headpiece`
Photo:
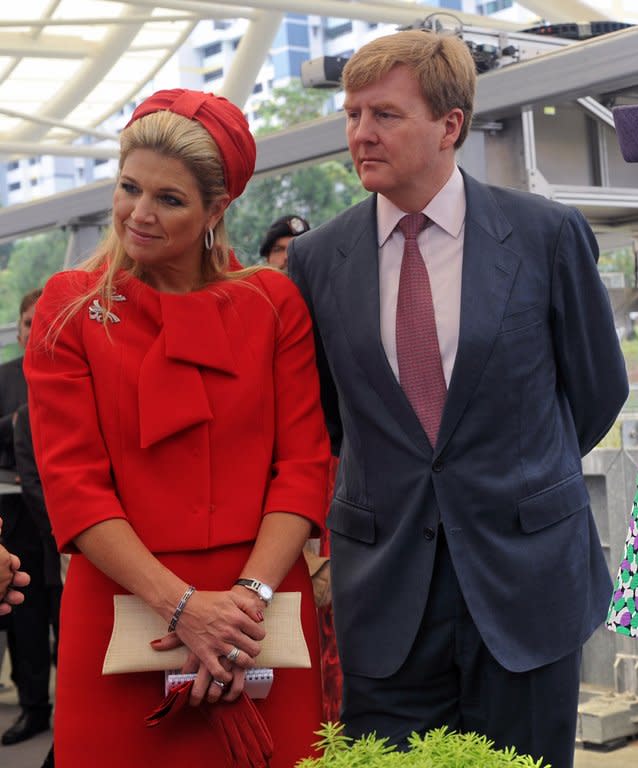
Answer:
<svg viewBox="0 0 638 768"><path fill-rule="evenodd" d="M118 174L127 157L136 149L150 149L166 157L180 160L193 175L199 189L202 204L206 210L215 200L227 195L224 167L219 148L208 131L197 121L163 110L139 118L120 134L120 159ZM224 280L242 280L258 270L268 269L263 265L229 271L230 244L224 223L224 216L214 228L215 242L206 250L202 239L201 279L203 284ZM78 296L65 307L50 331L57 339L64 325L89 300L98 297L101 305L110 311L113 305L115 279L121 270L140 277L142 270L124 250L113 224L107 230L95 252L76 269L95 272L105 267L97 283L85 294ZM108 333L107 323L104 328Z"/></svg>

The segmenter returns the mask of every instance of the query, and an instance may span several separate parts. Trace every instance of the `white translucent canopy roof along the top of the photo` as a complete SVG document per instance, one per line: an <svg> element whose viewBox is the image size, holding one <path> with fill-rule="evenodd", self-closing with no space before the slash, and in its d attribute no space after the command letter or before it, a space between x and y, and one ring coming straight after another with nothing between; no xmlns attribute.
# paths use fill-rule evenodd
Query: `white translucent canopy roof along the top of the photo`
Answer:
<svg viewBox="0 0 638 768"><path fill-rule="evenodd" d="M278 23L286 11L407 24L443 10L434 7L436 2L247 0L244 5L236 0L3 0L0 154L84 154L78 147L69 147L80 136L114 138L99 126L136 97L202 20L244 18L255 40L264 25ZM629 5L635 8L635 3L523 0L522 4L530 11L529 24L530 18L618 20L620 13L629 20ZM523 26L454 13L468 24L507 29ZM256 48L254 55L263 60L263 51ZM244 55L244 68L246 63ZM253 62L248 70L256 66L258 71L260 64ZM232 93L225 95L233 98ZM241 95L235 94L234 100L243 104Z"/></svg>

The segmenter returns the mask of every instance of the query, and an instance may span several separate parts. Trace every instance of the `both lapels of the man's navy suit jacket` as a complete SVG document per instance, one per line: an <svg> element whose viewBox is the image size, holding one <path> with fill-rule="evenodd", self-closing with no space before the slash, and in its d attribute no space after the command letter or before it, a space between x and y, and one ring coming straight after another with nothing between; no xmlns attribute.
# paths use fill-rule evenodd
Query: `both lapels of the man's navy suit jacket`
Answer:
<svg viewBox="0 0 638 768"><path fill-rule="evenodd" d="M435 453L463 415L490 356L518 271L519 256L503 245L511 224L489 188L463 174L467 213L463 247L459 346ZM354 358L385 409L412 442L432 447L397 381L381 342L376 197L352 211L337 246L341 261L330 279Z"/></svg>

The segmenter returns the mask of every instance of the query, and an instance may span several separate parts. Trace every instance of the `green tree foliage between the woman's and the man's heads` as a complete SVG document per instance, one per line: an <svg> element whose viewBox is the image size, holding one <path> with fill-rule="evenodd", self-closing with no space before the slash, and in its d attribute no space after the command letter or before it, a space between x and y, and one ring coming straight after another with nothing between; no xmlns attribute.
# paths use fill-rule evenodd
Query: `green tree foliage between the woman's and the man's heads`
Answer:
<svg viewBox="0 0 638 768"><path fill-rule="evenodd" d="M328 98L325 91L303 88L298 80L275 88L272 100L259 110L263 125L257 135L320 117ZM255 179L229 208L226 222L230 241L244 264L254 264L259 260L259 244L275 219L297 214L316 227L367 194L349 162L331 160Z"/></svg>

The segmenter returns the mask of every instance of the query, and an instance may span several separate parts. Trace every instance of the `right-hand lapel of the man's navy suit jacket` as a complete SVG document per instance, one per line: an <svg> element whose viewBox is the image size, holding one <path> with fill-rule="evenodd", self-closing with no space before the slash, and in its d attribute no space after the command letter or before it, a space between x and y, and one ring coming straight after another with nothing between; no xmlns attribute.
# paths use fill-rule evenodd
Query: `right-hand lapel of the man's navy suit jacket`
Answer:
<svg viewBox="0 0 638 768"><path fill-rule="evenodd" d="M519 256L503 245L511 225L489 188L463 174L467 199L459 346L437 440L450 439L494 346L518 271Z"/></svg>

